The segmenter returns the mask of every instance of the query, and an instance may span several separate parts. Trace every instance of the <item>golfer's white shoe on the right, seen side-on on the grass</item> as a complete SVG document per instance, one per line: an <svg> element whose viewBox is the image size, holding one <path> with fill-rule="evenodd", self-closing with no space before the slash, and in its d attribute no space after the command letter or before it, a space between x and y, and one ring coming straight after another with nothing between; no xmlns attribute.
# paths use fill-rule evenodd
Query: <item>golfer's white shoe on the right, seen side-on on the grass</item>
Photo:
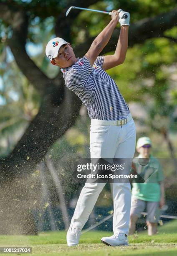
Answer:
<svg viewBox="0 0 177 256"><path fill-rule="evenodd" d="M129 245L128 238L124 233L116 233L113 236L102 237L101 242L105 243L107 246Z"/></svg>

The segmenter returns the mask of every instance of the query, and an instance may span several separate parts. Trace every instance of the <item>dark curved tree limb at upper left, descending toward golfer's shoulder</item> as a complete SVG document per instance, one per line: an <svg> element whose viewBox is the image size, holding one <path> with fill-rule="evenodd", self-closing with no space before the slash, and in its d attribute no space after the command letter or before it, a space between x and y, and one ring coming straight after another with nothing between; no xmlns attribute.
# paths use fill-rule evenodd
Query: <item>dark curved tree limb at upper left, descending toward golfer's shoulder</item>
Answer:
<svg viewBox="0 0 177 256"><path fill-rule="evenodd" d="M43 95L52 80L43 74L26 53L25 44L28 33L27 14L22 9L16 9L14 6L12 8L8 3L0 3L0 17L13 28L13 36L7 43L10 46L18 67L29 82Z"/></svg>

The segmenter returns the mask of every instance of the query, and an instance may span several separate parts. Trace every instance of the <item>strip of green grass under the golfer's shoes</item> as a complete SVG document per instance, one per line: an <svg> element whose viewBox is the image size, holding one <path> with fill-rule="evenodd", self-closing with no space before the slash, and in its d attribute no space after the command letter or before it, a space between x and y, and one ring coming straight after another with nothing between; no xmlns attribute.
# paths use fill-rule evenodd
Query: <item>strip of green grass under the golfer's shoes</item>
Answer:
<svg viewBox="0 0 177 256"><path fill-rule="evenodd" d="M0 236L0 247L32 247L33 255L68 256L113 256L113 255L177 255L177 220L159 227L155 236L147 236L147 231L129 236L129 246L109 247L100 243L102 236L111 232L89 231L81 236L76 247L66 245L66 232L44 232L38 236ZM1 254L5 255L5 254Z"/></svg>

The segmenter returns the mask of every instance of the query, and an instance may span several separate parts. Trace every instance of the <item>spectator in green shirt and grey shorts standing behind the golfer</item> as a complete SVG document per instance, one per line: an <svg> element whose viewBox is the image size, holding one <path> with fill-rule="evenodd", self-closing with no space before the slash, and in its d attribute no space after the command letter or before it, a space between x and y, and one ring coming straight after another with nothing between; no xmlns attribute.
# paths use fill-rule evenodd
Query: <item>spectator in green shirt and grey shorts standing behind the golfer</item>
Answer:
<svg viewBox="0 0 177 256"><path fill-rule="evenodd" d="M134 158L131 171L137 172L143 182L137 183L134 180L132 183L129 235L135 232L136 222L145 208L148 235L156 234L160 208L165 204L163 172L159 161L151 154L151 147L150 138L138 139L136 148L139 156Z"/></svg>

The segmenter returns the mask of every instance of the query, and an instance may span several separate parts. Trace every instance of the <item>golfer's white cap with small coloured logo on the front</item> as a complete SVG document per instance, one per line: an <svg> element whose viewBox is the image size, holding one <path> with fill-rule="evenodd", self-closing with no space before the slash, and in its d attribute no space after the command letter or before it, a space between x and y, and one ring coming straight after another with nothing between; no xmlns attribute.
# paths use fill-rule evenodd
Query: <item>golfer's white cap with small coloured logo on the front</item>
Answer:
<svg viewBox="0 0 177 256"><path fill-rule="evenodd" d="M55 37L51 39L46 45L46 55L48 59L52 60L58 55L58 50L63 44L69 44L63 38Z"/></svg>

